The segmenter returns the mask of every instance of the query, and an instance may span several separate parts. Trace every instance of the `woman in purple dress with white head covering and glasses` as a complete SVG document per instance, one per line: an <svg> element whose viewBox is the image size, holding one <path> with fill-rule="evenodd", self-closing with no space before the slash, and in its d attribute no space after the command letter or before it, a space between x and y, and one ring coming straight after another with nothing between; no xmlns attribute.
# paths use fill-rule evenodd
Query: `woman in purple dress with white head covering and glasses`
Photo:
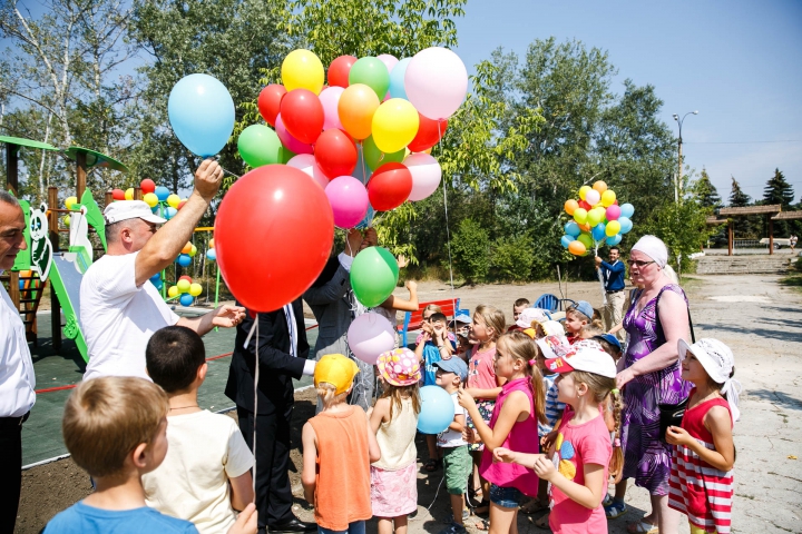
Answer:
<svg viewBox="0 0 802 534"><path fill-rule="evenodd" d="M616 378L624 393L622 447L624 478L648 490L652 513L633 523L630 533L675 534L678 515L668 508L671 448L659 439L658 404L676 404L687 397L691 384L681 377L677 342L688 334L687 298L666 266L668 250L654 237L644 236L629 254L633 281L643 286L624 317L629 334L625 368Z"/></svg>

